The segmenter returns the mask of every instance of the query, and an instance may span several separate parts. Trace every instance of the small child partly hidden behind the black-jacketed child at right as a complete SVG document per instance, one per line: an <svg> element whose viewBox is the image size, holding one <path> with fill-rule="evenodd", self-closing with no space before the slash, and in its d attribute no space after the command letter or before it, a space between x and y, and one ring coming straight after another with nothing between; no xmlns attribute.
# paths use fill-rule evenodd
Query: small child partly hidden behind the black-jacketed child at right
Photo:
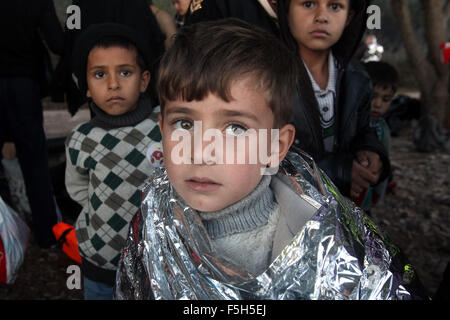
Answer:
<svg viewBox="0 0 450 320"><path fill-rule="evenodd" d="M384 114L391 106L392 99L397 91L398 73L395 68L386 62L368 62L365 64L367 72L373 83L373 97L370 103L370 126L375 128L378 140L385 148L388 156L391 149L391 132ZM390 177L384 179L376 186L361 192L355 203L370 214L370 208L383 202Z"/></svg>

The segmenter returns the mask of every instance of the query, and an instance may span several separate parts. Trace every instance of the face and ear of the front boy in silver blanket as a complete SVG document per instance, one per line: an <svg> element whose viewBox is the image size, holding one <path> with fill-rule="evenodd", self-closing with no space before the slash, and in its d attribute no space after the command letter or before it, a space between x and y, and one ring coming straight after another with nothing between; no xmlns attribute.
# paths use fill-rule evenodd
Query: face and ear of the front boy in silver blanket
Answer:
<svg viewBox="0 0 450 320"><path fill-rule="evenodd" d="M266 155L271 150L270 129L274 125L274 116L264 93L252 87L251 81L238 80L231 85L230 94L230 102L211 93L201 101L168 101L163 116L160 115L164 161L169 180L181 198L199 211L221 210L250 194L260 182L261 169L266 165L261 163L259 157L258 161L250 160L251 152L257 151L252 150L254 145L249 143L246 133L252 129L257 132L266 129L269 134L267 140L256 136L256 143L258 146L265 144L268 150ZM195 132L194 121L197 125L197 121L201 121L200 132ZM218 136L206 138L205 132L210 129L216 130ZM191 137L188 140L190 155L187 157L190 161L180 163L177 160L180 156L177 145L180 142L172 141L171 137L174 132L183 131ZM279 153L275 157L281 160L292 143L295 129L287 125L279 132ZM195 135L198 133L200 141L196 145ZM239 146L239 139L245 140L243 147ZM222 140L222 145L219 140ZM233 144L230 144L231 141ZM213 152L205 152L212 146L216 147ZM221 156L223 162L219 163ZM238 162L238 156L245 161Z"/></svg>

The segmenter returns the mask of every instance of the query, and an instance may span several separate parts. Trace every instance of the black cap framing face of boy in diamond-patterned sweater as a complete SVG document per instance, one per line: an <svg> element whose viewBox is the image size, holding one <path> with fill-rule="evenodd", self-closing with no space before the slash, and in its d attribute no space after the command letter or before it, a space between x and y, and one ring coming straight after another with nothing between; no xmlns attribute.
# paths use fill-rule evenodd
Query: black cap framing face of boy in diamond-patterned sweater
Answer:
<svg viewBox="0 0 450 320"><path fill-rule="evenodd" d="M83 95L87 91L86 66L89 53L95 47L118 46L136 50L137 63L141 72L149 70L151 49L142 37L130 27L118 23L92 24L84 30L75 42L72 54L72 70Z"/></svg>

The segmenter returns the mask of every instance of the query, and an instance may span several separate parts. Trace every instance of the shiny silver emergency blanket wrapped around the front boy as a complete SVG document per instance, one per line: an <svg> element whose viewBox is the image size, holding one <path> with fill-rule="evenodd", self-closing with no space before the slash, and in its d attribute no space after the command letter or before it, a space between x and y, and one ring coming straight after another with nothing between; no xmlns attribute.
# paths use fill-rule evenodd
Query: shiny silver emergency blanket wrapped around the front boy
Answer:
<svg viewBox="0 0 450 320"><path fill-rule="evenodd" d="M280 176L281 175L281 176ZM198 213L164 169L146 182L116 278L116 299L420 299L416 274L369 218L342 197L306 154L289 153L288 178L311 218L265 272L220 256ZM418 292L418 291L417 291Z"/></svg>

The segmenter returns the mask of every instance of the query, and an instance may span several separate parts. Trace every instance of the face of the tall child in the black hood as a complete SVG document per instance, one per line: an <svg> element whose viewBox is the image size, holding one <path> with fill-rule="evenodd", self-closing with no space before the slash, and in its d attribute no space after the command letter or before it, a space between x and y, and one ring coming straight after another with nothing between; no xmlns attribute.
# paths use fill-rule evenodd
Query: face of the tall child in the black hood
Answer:
<svg viewBox="0 0 450 320"><path fill-rule="evenodd" d="M291 0L289 28L300 51L326 51L340 39L350 22L349 0Z"/></svg>

